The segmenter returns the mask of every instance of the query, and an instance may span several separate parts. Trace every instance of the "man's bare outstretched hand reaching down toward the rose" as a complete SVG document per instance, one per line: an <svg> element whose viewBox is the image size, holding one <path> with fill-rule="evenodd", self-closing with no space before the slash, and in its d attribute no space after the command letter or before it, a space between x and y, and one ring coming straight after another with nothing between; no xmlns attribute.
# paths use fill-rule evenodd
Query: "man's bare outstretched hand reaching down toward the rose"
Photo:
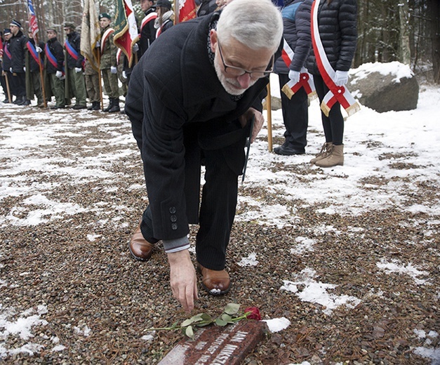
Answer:
<svg viewBox="0 0 440 365"><path fill-rule="evenodd" d="M179 300L185 312L194 309L194 300L198 300L196 270L188 250L168 253L170 263L170 283L173 296Z"/></svg>

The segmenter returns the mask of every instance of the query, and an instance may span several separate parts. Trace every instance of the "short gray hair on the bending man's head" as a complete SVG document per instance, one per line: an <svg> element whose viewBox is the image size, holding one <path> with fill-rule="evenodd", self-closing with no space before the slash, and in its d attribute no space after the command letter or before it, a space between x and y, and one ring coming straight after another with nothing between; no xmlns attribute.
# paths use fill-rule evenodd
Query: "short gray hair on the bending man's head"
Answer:
<svg viewBox="0 0 440 365"><path fill-rule="evenodd" d="M220 14L217 33L225 43L234 38L249 48L275 52L283 35L283 19L270 0L234 0Z"/></svg>

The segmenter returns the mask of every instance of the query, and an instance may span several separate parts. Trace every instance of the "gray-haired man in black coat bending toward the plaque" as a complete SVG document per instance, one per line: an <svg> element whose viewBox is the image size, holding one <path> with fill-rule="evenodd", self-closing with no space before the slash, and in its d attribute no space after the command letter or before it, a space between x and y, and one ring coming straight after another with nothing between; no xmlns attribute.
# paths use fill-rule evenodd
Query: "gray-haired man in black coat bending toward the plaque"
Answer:
<svg viewBox="0 0 440 365"><path fill-rule="evenodd" d="M133 69L126 114L141 151L149 206L129 248L134 258L148 260L162 240L173 295L186 311L197 298L189 223L199 223L202 286L213 295L229 291L226 248L244 145L251 117L251 140L262 127L261 101L282 32L271 1L234 0L221 14L168 29ZM199 206L201 164L206 183Z"/></svg>

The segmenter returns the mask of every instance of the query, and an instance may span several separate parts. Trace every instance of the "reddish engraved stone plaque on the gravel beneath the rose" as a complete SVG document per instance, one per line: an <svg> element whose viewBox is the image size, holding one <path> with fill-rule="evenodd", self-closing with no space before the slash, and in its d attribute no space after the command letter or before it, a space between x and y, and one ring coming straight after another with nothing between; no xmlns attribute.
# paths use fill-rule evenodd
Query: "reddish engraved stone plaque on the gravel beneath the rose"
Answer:
<svg viewBox="0 0 440 365"><path fill-rule="evenodd" d="M194 340L180 340L159 365L238 365L266 331L265 322L253 320L199 328Z"/></svg>

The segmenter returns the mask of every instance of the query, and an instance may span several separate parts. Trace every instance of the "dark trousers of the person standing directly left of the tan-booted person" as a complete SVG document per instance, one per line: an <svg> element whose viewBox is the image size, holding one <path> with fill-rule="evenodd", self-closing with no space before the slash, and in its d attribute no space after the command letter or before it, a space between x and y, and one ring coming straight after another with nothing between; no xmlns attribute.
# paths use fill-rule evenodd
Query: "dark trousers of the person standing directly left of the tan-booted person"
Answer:
<svg viewBox="0 0 440 365"><path fill-rule="evenodd" d="M282 88L289 81L288 74L279 74L279 86ZM300 88L292 98L281 91L281 107L286 131L285 145L295 150L305 150L307 145L307 126L309 125L309 103L304 88Z"/></svg>

